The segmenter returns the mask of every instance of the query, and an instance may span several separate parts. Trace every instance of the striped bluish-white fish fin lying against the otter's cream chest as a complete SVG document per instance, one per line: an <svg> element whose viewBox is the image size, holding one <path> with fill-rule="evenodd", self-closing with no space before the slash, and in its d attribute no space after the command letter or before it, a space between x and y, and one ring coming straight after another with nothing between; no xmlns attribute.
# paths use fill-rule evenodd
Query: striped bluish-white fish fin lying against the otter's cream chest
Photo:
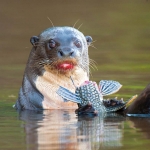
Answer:
<svg viewBox="0 0 150 150"><path fill-rule="evenodd" d="M75 103L81 103L81 99L77 94L69 91L68 89L62 86L59 87L56 93L63 98L64 102L72 101Z"/></svg>

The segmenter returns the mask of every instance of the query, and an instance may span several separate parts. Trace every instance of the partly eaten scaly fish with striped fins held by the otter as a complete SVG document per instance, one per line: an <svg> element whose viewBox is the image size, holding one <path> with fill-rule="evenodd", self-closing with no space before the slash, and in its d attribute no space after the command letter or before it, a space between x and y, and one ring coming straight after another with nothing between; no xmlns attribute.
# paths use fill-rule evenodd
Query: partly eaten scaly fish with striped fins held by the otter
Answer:
<svg viewBox="0 0 150 150"><path fill-rule="evenodd" d="M85 81L81 86L76 87L75 93L60 86L57 94L63 98L64 102L72 101L80 107L92 104L92 107L97 112L116 112L121 109L126 109L137 97L137 95L132 96L126 102L122 99L117 100L117 98L110 100L104 99L104 96L118 92L121 87L122 84L113 80L101 80L99 85L93 81Z"/></svg>

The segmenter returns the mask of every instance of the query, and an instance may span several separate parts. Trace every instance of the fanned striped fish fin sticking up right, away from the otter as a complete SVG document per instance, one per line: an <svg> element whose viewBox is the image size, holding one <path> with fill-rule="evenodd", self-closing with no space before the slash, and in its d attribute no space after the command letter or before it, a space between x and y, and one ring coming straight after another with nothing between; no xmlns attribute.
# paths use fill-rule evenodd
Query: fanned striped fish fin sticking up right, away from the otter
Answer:
<svg viewBox="0 0 150 150"><path fill-rule="evenodd" d="M113 80L101 80L99 82L100 93L103 96L114 94L122 87L122 85Z"/></svg>

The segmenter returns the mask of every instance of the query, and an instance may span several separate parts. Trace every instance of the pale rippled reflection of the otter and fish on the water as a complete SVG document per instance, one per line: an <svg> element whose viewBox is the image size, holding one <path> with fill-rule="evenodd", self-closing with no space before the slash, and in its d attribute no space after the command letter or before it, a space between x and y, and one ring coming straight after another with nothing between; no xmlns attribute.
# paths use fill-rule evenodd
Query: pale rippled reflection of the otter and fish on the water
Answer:
<svg viewBox="0 0 150 150"><path fill-rule="evenodd" d="M98 150L121 147L122 116L77 118L74 111L21 111L28 149Z"/></svg>

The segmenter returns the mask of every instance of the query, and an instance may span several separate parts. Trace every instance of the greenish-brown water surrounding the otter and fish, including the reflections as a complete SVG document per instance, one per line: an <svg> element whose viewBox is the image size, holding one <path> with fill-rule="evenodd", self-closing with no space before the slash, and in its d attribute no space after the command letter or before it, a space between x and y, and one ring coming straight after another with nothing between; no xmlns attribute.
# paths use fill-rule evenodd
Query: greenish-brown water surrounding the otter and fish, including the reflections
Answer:
<svg viewBox="0 0 150 150"><path fill-rule="evenodd" d="M130 98L150 81L149 0L0 1L0 150L141 150L150 147L150 119L116 114L78 118L74 111L16 112L31 50L29 39L52 26L76 24L93 37L91 80L117 80Z"/></svg>

